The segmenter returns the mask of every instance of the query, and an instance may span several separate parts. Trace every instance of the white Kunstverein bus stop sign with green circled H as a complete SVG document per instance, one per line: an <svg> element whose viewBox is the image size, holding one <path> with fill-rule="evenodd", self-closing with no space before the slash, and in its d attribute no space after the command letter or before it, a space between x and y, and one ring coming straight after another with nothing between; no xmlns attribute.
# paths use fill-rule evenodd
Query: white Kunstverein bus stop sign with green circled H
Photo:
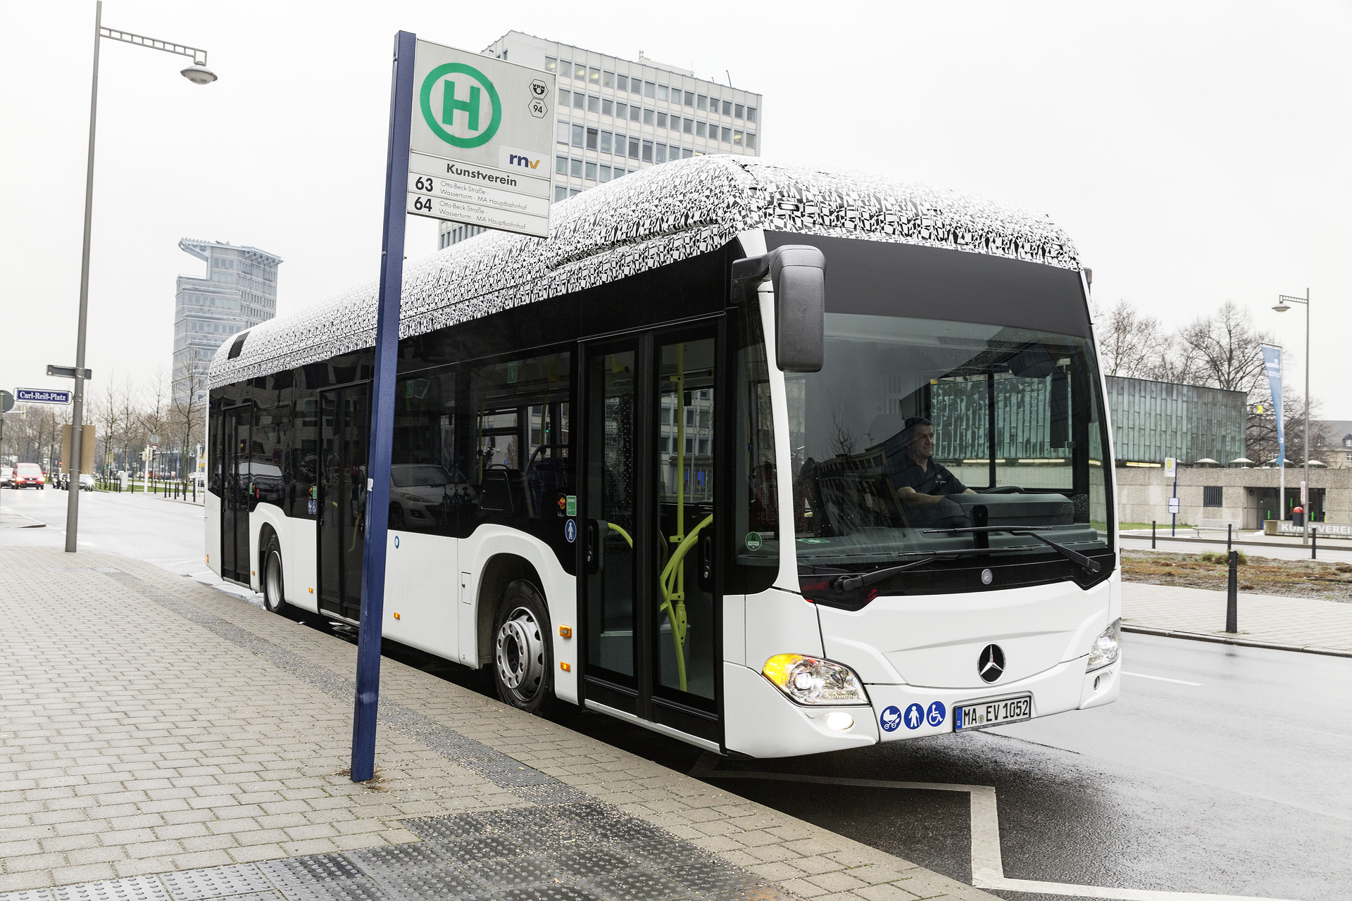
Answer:
<svg viewBox="0 0 1352 901"><path fill-rule="evenodd" d="M418 41L407 211L548 238L553 97L552 73Z"/></svg>

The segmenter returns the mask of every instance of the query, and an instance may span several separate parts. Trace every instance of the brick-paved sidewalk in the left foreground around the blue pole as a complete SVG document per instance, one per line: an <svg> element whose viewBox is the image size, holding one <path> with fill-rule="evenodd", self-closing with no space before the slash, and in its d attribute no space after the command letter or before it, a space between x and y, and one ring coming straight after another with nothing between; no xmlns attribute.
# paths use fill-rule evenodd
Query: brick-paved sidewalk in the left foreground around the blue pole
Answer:
<svg viewBox="0 0 1352 901"><path fill-rule="evenodd" d="M0 547L3 901L991 898L108 554Z"/></svg>

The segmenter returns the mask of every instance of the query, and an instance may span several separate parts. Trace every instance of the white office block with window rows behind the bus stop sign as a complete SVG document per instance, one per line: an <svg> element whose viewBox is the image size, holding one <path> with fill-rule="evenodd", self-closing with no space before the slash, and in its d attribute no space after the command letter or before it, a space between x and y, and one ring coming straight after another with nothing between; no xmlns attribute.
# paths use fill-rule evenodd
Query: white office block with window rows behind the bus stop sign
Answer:
<svg viewBox="0 0 1352 901"><path fill-rule="evenodd" d="M557 76L554 200L703 154L760 155L761 95L696 78L688 69L610 57L508 31L484 50ZM438 247L483 231L442 223Z"/></svg>

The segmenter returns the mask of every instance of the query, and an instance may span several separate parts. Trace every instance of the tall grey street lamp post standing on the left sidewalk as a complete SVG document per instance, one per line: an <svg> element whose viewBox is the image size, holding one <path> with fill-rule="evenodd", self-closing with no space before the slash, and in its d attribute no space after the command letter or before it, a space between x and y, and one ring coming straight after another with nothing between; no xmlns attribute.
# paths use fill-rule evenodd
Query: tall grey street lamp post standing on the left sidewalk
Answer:
<svg viewBox="0 0 1352 901"><path fill-rule="evenodd" d="M84 253L80 257L80 320L76 327L76 389L70 405L70 463L66 467L70 473L70 482L74 490L66 498L66 552L76 552L76 536L80 525L80 457L82 454L81 427L84 424L84 353L85 353L85 320L89 312L89 230L93 222L93 138L99 113L99 45L103 38L134 43L151 50L164 50L178 55L191 57L192 65L181 70L184 78L195 85L210 85L216 80L216 74L207 69L207 51L197 47L188 47L170 41L158 41L130 31L116 31L103 27L103 0L95 4L93 11L93 85L89 89L89 162L85 169L85 232Z"/></svg>

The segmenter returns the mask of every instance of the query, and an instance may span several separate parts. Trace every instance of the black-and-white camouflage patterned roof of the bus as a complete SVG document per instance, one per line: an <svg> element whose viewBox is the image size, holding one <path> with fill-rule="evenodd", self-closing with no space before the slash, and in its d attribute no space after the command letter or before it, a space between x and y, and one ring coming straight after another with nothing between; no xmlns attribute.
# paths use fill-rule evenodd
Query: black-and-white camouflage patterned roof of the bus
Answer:
<svg viewBox="0 0 1352 901"><path fill-rule="evenodd" d="M550 235L484 232L404 265L400 336L625 278L717 250L754 228L887 240L1079 269L1046 216L865 173L694 157L653 166L554 204ZM375 273L373 273L375 274ZM376 280L227 340L211 362L219 388L376 343Z"/></svg>

